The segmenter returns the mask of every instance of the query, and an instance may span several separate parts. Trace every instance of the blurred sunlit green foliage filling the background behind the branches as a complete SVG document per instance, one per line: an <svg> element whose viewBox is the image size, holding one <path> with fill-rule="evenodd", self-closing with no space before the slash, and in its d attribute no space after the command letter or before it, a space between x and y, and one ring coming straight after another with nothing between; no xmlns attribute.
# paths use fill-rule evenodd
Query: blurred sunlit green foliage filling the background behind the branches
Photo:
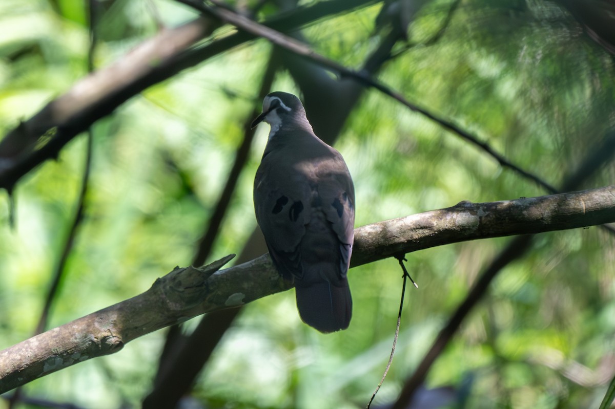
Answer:
<svg viewBox="0 0 615 409"><path fill-rule="evenodd" d="M248 2L252 3L252 2ZM100 2L95 64L106 66L159 25L194 13L170 0ZM238 4L239 5L239 4ZM376 47L381 4L309 26L315 50L359 68ZM613 56L552 2L462 1L443 36L450 1L427 2L379 79L472 131L512 162L560 185L614 125ZM263 14L275 12L267 6ZM0 2L0 133L86 74L83 2ZM220 33L227 33L222 28ZM223 187L242 123L255 105L270 46L223 53L132 98L93 127L86 216L68 259L50 327L146 290L194 253ZM274 89L298 92L280 73ZM239 252L255 228L252 180L258 133L210 259ZM17 223L0 194L0 349L31 336L81 183L77 138L17 185ZM543 195L437 124L369 90L336 147L357 190L357 226L461 200ZM584 187L612 184L614 166ZM410 288L397 354L376 403L394 400L506 239L408 255ZM600 228L547 233L506 268L437 360L427 387L470 383L469 408L597 407L613 374L615 246ZM321 335L302 324L292 292L258 300L223 338L194 397L208 407L356 408L389 357L399 308L395 260L355 268L351 327ZM191 325L185 327L191 330ZM87 408L137 407L151 387L159 331L118 354L34 381L25 393ZM6 403L0 400L0 408ZM28 405L22 405L28 407ZM35 407L35 406L30 406Z"/></svg>

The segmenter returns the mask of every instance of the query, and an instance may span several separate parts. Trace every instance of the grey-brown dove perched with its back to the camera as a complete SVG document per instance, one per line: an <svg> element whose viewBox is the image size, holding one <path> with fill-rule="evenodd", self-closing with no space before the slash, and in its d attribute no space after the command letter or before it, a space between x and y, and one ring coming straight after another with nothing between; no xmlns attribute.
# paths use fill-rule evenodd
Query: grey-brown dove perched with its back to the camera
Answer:
<svg viewBox="0 0 615 409"><path fill-rule="evenodd" d="M254 179L256 221L280 275L295 283L303 322L323 333L347 329L347 272L354 240L354 184L338 150L312 130L300 99L272 92L252 122L271 130Z"/></svg>

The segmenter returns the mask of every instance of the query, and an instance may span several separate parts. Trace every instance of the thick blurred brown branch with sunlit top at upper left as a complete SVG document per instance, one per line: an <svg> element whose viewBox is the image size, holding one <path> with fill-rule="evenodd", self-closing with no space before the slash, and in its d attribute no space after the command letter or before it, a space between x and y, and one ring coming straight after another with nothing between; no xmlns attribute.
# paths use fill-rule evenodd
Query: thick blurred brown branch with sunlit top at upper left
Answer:
<svg viewBox="0 0 615 409"><path fill-rule="evenodd" d="M84 77L38 114L20 123L0 142L0 187L10 190L34 166L57 156L68 141L93 122L155 84L152 77L157 81L166 79L166 64L173 56L215 28L215 21L199 18L164 30L108 68ZM35 147L43 135L49 140Z"/></svg>

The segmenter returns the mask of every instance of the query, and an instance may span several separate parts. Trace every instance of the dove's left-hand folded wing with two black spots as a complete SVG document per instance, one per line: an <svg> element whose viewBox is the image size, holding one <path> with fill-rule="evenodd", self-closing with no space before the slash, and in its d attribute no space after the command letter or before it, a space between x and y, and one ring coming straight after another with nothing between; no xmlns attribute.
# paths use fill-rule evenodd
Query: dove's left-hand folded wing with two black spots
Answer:
<svg viewBox="0 0 615 409"><path fill-rule="evenodd" d="M286 279L303 277L298 250L311 217L311 190L304 176L283 166L284 152L263 157L254 180L256 221L263 231L269 254ZM286 159L286 160L285 160Z"/></svg>

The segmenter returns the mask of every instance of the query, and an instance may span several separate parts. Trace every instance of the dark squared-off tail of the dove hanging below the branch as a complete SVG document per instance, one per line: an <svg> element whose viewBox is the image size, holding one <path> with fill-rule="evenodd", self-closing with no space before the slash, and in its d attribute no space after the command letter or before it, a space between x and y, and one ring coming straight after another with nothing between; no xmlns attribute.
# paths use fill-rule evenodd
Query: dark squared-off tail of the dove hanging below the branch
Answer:
<svg viewBox="0 0 615 409"><path fill-rule="evenodd" d="M322 280L308 285L295 281L297 309L303 322L320 332L346 329L352 317L352 297L346 278L336 286Z"/></svg>

